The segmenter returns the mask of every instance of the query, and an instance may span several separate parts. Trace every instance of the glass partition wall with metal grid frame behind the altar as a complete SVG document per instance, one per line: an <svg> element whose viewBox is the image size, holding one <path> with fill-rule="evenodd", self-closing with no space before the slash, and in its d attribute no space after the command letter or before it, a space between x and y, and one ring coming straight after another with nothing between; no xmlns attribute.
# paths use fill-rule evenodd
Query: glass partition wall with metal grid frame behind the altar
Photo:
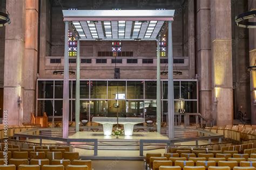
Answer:
<svg viewBox="0 0 256 170"><path fill-rule="evenodd" d="M174 111L198 112L197 80L174 80ZM63 80L37 82L37 116L62 116ZM69 81L70 121L75 121L76 80ZM166 122L168 82L161 80L161 117ZM156 80L80 80L80 120L93 116L144 117L156 121Z"/></svg>

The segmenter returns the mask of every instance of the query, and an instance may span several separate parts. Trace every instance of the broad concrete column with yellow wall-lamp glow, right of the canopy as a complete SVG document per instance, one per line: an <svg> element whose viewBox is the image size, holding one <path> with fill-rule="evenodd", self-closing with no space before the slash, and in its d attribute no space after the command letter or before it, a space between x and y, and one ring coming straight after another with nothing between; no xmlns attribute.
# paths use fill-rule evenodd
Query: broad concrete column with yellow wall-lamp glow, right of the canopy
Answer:
<svg viewBox="0 0 256 170"><path fill-rule="evenodd" d="M212 95L215 123L233 125L231 1L211 0Z"/></svg>

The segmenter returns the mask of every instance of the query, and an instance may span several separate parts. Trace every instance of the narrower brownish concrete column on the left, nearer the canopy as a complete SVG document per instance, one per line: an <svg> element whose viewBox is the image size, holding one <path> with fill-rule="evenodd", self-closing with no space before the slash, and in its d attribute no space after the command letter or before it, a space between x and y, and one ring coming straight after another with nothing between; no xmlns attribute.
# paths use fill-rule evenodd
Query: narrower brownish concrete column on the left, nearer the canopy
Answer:
<svg viewBox="0 0 256 170"><path fill-rule="evenodd" d="M30 113L35 113L38 0L26 0L25 51L23 60L24 115L23 122L30 122Z"/></svg>

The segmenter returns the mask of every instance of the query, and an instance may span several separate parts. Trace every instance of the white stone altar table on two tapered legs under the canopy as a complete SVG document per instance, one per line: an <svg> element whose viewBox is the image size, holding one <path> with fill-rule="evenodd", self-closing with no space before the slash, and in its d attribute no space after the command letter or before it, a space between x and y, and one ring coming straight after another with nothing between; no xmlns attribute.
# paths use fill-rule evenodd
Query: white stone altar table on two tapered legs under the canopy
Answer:
<svg viewBox="0 0 256 170"><path fill-rule="evenodd" d="M92 122L100 123L103 125L104 135L111 135L113 124L117 124L117 117L93 117ZM133 133L133 126L135 124L144 123L144 118L135 117L119 117L118 124L124 125L124 135L131 136Z"/></svg>

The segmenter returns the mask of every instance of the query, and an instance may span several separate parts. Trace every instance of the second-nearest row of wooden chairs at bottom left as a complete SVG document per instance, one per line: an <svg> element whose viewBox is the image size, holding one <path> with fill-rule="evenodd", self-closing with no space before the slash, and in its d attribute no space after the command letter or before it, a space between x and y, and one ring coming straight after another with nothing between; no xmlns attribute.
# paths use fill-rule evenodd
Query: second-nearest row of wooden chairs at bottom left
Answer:
<svg viewBox="0 0 256 170"><path fill-rule="evenodd" d="M0 161L1 162L1 161ZM1 162L1 165L2 164ZM16 170L19 169L20 165L38 165L41 170L43 170L44 165L62 165L64 169L67 169L69 165L86 165L88 170L92 169L91 160L73 160L69 159L53 159L51 162L49 159L10 159L8 165L15 165ZM0 168L1 169L1 168ZM1 169L2 170L2 169Z"/></svg>

